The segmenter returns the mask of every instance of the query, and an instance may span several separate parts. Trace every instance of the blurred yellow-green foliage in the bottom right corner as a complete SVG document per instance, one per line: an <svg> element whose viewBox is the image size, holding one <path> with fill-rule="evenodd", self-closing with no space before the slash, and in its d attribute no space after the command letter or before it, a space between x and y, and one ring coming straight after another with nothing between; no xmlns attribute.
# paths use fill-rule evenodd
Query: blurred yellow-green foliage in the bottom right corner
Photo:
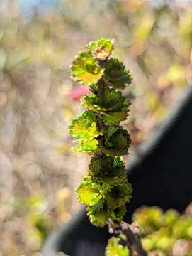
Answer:
<svg viewBox="0 0 192 256"><path fill-rule="evenodd" d="M143 206L135 211L132 220L140 225L142 246L149 255L192 254L192 216Z"/></svg>

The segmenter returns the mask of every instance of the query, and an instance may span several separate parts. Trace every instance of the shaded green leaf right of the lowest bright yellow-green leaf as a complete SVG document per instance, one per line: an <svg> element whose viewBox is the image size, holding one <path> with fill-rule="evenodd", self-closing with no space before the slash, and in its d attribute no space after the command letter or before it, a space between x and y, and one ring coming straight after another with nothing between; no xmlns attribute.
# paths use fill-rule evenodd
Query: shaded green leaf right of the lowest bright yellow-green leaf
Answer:
<svg viewBox="0 0 192 256"><path fill-rule="evenodd" d="M128 203L131 198L132 187L126 180L124 183L120 183L118 186L113 186L110 192L106 195L108 206L112 209Z"/></svg>

